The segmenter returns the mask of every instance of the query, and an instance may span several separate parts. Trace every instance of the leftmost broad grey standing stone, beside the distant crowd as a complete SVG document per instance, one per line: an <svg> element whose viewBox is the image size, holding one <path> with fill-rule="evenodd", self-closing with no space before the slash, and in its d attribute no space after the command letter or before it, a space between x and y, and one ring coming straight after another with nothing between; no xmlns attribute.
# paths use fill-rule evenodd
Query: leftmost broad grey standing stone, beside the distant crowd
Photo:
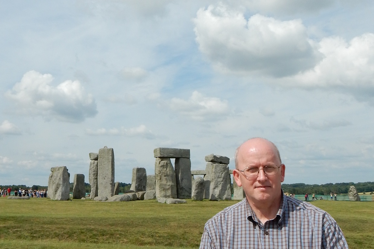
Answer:
<svg viewBox="0 0 374 249"><path fill-rule="evenodd" d="M70 199L70 174L66 166L52 167L48 179L48 197L51 200Z"/></svg>

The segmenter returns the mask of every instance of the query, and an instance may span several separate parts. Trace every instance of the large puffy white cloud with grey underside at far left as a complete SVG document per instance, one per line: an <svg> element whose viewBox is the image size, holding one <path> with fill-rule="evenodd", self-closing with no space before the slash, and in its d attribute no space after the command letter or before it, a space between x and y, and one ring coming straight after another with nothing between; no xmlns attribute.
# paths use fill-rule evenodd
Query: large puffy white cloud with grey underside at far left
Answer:
<svg viewBox="0 0 374 249"><path fill-rule="evenodd" d="M86 94L79 81L67 80L53 87L50 74L29 71L5 96L13 100L19 113L56 118L65 122L82 122L96 115L96 103Z"/></svg>

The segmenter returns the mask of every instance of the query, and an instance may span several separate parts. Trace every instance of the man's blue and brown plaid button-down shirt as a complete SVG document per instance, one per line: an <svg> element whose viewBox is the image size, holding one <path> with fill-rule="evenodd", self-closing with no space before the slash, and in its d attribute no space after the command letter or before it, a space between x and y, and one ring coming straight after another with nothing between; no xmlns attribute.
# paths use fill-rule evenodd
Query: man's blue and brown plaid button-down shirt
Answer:
<svg viewBox="0 0 374 249"><path fill-rule="evenodd" d="M262 224L247 199L208 220L200 249L348 248L336 221L309 202L285 196L276 217Z"/></svg>

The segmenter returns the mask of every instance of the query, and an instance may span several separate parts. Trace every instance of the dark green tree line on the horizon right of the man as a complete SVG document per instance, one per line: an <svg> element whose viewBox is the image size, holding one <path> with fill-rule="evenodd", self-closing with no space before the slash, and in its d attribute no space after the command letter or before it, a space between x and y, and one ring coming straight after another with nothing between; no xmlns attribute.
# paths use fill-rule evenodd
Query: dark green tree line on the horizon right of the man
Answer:
<svg viewBox="0 0 374 249"><path fill-rule="evenodd" d="M329 195L330 193L347 194L350 186L355 186L358 193L370 194L374 192L374 182L367 181L365 183L326 183L318 184L282 184L283 192L292 194L315 193L318 195Z"/></svg>

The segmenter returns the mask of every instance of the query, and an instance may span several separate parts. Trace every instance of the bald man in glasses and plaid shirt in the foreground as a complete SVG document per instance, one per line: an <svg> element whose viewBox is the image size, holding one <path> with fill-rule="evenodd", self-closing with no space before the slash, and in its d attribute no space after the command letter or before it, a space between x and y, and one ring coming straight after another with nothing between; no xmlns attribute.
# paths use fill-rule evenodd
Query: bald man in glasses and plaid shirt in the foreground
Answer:
<svg viewBox="0 0 374 249"><path fill-rule="evenodd" d="M308 202L285 196L279 150L252 138L235 152L233 177L246 198L205 224L205 248L348 248L336 221Z"/></svg>

